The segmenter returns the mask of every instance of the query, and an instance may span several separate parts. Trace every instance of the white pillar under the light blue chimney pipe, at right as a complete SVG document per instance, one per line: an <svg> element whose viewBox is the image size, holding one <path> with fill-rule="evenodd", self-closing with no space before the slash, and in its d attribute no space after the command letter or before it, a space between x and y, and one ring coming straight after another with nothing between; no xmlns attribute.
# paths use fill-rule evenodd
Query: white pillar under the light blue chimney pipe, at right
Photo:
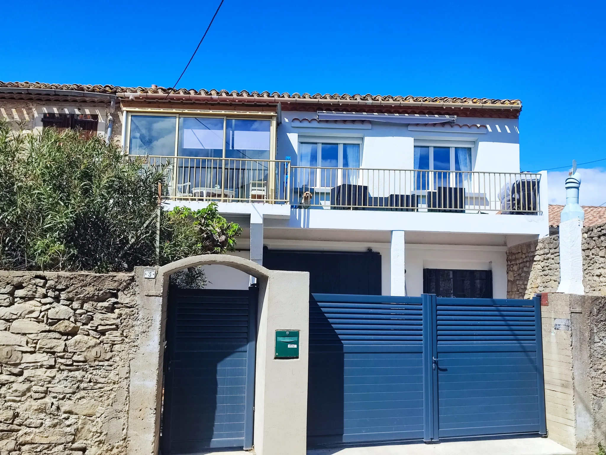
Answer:
<svg viewBox="0 0 606 455"><path fill-rule="evenodd" d="M585 294L583 287L583 222L578 218L560 223L560 285L557 292Z"/></svg>

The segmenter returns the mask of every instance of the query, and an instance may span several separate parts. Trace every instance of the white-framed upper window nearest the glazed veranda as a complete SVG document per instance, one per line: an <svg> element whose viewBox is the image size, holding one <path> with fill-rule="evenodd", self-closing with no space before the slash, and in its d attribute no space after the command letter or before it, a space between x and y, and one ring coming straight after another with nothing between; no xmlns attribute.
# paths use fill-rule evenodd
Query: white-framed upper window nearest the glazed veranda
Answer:
<svg viewBox="0 0 606 455"><path fill-rule="evenodd" d="M330 141L300 138L298 166L300 184L331 188L356 183L361 163L361 141Z"/></svg>

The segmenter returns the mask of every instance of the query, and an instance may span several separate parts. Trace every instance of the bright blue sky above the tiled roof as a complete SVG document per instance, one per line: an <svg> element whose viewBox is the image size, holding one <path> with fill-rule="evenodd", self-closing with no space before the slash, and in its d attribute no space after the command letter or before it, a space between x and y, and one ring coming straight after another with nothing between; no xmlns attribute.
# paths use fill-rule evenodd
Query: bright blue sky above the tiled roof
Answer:
<svg viewBox="0 0 606 455"><path fill-rule="evenodd" d="M0 80L172 86L218 4L8 2ZM605 13L604 2L225 0L179 86L519 98L522 170L584 163L606 158ZM586 167L606 181L600 166Z"/></svg>

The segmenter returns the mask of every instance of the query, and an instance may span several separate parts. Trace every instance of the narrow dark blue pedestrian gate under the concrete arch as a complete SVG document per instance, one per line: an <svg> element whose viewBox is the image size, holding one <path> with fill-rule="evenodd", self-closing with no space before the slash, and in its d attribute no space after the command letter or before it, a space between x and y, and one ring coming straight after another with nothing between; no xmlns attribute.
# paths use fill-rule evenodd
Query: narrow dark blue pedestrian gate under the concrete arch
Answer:
<svg viewBox="0 0 606 455"><path fill-rule="evenodd" d="M162 453L252 445L256 288L171 288Z"/></svg>

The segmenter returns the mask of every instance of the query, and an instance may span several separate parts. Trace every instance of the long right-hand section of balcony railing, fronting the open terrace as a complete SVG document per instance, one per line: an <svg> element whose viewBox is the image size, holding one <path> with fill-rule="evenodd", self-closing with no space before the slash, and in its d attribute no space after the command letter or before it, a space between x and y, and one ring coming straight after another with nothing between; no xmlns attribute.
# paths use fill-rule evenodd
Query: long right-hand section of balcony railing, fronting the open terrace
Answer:
<svg viewBox="0 0 606 455"><path fill-rule="evenodd" d="M295 207L539 214L541 174L442 170L290 168Z"/></svg>

